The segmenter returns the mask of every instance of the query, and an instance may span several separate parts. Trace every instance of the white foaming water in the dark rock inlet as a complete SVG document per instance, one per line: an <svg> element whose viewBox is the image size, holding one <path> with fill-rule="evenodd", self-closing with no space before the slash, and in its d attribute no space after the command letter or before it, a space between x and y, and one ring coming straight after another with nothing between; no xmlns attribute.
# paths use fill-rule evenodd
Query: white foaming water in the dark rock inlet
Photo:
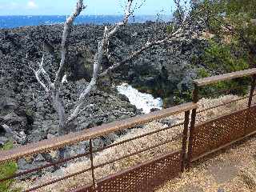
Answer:
<svg viewBox="0 0 256 192"><path fill-rule="evenodd" d="M150 113L151 109L162 110L162 98L154 98L151 94L143 94L127 83L117 86L120 94L126 95L131 104L142 109L143 113Z"/></svg>

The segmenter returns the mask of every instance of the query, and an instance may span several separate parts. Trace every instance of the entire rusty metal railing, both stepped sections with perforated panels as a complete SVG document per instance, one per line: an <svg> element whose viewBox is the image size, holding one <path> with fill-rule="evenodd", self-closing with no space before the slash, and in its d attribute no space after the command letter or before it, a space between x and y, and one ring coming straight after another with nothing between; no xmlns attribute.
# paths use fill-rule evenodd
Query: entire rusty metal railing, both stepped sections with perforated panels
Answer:
<svg viewBox="0 0 256 192"><path fill-rule="evenodd" d="M242 98L237 98L229 102L223 102L221 104L210 106L204 109L197 110L198 105L198 88L202 86L208 86L214 82L231 80L234 78L242 78L245 76L252 76L252 82L250 87L250 93ZM50 150L59 150L63 147L68 147L72 145L77 145L79 142L88 141L89 151L82 154L76 154L70 158L58 159L55 162L48 162L44 166L38 166L36 168L18 172L10 177L1 178L1 182L10 180L13 178L21 178L22 176L38 172L40 170L55 167L59 168L63 163L71 162L74 159L86 158L90 162L90 166L83 167L82 170L78 170L72 174L68 174L61 178L54 178L50 181L46 181L38 184L37 186L30 186L29 189L25 191L37 191L45 186L50 186L56 182L65 181L69 178L73 178L79 174L89 173L90 181L86 182L86 186L81 186L74 191L152 191L155 186L158 186L159 182L164 182L166 179L170 179L180 172L182 172L185 167L190 167L190 163L194 162L198 158L202 158L207 154L213 153L223 147L230 146L234 142L237 142L243 138L248 137L251 134L256 133L256 126L254 125L256 119L256 106L252 105L252 98L254 97L254 88L256 81L256 69L243 70L230 74L223 74L214 76L211 78L203 78L194 81L194 93L193 102L186 103L180 106L174 106L165 110L155 111L150 114L144 114L134 118L128 118L126 120L111 122L102 126L97 126L89 130L82 130L77 133L66 134L56 138L46 139L36 143L30 143L26 146L19 146L12 150L0 151L0 165L5 162L17 161L21 158L26 158L34 154L48 153ZM233 87L233 89L236 87ZM223 93L230 93L221 90ZM232 102L238 102L242 99L248 99L246 108L242 110L236 110L231 114L221 115L220 117L215 117L206 122L196 124L197 114L202 114L207 110L213 110L215 108L228 105ZM190 118L190 111L191 118ZM150 130L146 134L136 135L133 138L127 138L126 140L120 142L114 142L107 146L102 146L94 148L93 142L95 138L105 136L107 134L115 133L121 130L127 130L133 128L134 126L140 126L154 120L159 120L162 118L167 118L176 114L183 114L183 122L178 122L175 125L159 128L158 130ZM232 124L235 122L235 126ZM190 126L189 126L190 124ZM221 125L221 126L218 126ZM181 134L178 134L176 138L166 138L163 141L159 141L155 144L142 147L138 150L133 150L128 154L123 154L120 157L114 157L107 159L107 161L95 162L96 154L108 150L112 147L121 146L123 144L128 144L139 140L140 138L145 138L153 134L164 133L167 130L174 129L174 127L179 127ZM180 128L182 127L182 128ZM214 140L213 138L218 136L220 143L209 142ZM223 137L223 138L222 138ZM168 151L161 154L158 157L152 159L146 159L146 162L140 162L136 166L130 166L125 170L118 171L114 174L109 174L107 176L102 176L98 178L95 174L96 171L104 166L113 164L114 162L121 161L125 158L133 157L137 154L142 154L146 151L157 149L160 146L164 146L170 142L181 139L178 146L178 150ZM209 141L207 140L209 139ZM199 141L199 142L198 142ZM126 150L126 149L123 149ZM82 159L84 161L84 159Z"/></svg>

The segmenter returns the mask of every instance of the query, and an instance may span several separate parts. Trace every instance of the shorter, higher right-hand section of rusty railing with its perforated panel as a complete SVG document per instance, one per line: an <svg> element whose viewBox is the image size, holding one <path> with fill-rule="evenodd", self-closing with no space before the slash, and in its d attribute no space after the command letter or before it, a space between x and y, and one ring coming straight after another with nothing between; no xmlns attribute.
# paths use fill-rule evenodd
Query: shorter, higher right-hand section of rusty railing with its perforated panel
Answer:
<svg viewBox="0 0 256 192"><path fill-rule="evenodd" d="M199 98L199 88L204 86L210 86L216 82L229 81L232 79L243 78L251 76L251 86L250 93L242 98L236 98L229 102L222 102L218 105L206 107L204 109L194 109L191 115L190 124L190 138L188 147L188 167L190 167L190 162L194 162L199 158L205 157L207 154L214 153L217 150L221 150L226 146L230 146L234 142L238 142L247 136L254 134L256 132L256 125L249 123L254 116L256 111L255 106L252 106L252 99L254 97L255 81L256 81L256 69L242 70L233 72L230 74L221 74L210 78L202 78L194 80L194 92L193 101L198 102ZM231 87L229 90L221 90L222 93L230 93L230 90L235 90L241 87ZM231 114L222 114L217 117L211 118L206 122L201 122L196 124L197 114L202 114L208 110L213 110L221 106L226 106L228 104L238 102L244 99L248 99L248 102L244 109L239 109ZM256 115L256 114L255 114ZM237 125L234 126L232 123L236 122ZM250 124L250 125L249 125ZM239 128L240 126L240 128ZM236 130L232 130L234 128ZM250 127L250 131L247 130ZM231 130L230 130L231 129ZM227 131L227 132L225 132ZM212 135L211 135L212 134ZM236 134L236 135L235 135ZM212 137L213 140L218 140L217 142L206 141ZM215 138L218 139L215 139ZM200 140L200 143L198 142Z"/></svg>

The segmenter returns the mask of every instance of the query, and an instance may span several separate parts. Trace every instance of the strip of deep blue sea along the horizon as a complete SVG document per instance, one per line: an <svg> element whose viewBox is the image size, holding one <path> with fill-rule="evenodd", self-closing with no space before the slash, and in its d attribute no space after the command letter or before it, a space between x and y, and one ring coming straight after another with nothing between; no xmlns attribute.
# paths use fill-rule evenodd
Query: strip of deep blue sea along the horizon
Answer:
<svg viewBox="0 0 256 192"><path fill-rule="evenodd" d="M143 23L147 21L160 21L169 22L169 15L138 15L134 18L130 18L129 22ZM0 16L0 28L14 28L19 26L39 26L39 25L54 25L63 24L66 21L66 16L63 15L38 15L38 16ZM74 24L97 24L102 25L104 23L113 24L122 21L120 15L81 15Z"/></svg>

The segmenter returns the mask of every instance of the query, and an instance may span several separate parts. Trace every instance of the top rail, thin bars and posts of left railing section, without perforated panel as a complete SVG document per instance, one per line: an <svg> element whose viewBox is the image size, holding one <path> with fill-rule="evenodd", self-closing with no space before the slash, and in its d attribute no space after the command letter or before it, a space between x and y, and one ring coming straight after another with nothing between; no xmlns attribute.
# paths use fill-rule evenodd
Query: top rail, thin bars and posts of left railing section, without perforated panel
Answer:
<svg viewBox="0 0 256 192"><path fill-rule="evenodd" d="M153 112L151 114L144 114L144 115L141 115L141 116L138 116L138 117L128 118L126 120L122 120L122 121L118 121L118 122L111 122L111 123L108 123L108 124L105 124L105 125L102 125L102 126L97 126L97 127L91 128L89 130L82 130L82 131L77 132L77 133L71 133L71 134L66 134L64 136L60 136L60 137L56 137L56 138L50 138L50 139L46 139L46 140L43 140L43 141L37 142L37 143L30 143L30 144L27 144L26 146L20 146L20 147L14 148L13 150L1 151L0 152L0 164L4 163L4 162L9 162L9 161L16 161L20 158L25 158L27 156L31 156L31 155L34 155L34 154L46 153L46 152L49 152L50 150L58 150L58 149L61 149L65 146L75 145L76 143L82 142L82 141L89 141L90 142L90 147L89 147L90 149L86 153L77 154L74 157L70 157L70 158L59 159L56 162L50 162L50 163L47 163L44 166L38 166L37 168L34 168L34 169L19 172L19 173L14 174L10 177L0 179L0 182L5 182L6 180L9 180L9 179L12 179L12 178L19 178L23 175L38 172L39 170L46 169L50 166L60 166L64 162L70 162L71 160L74 160L74 159L77 159L77 158L87 157L87 158L90 158L90 163L91 163L90 167L88 167L84 170L79 170L76 173L66 175L65 177L56 178L56 179L51 180L50 182L45 182L45 183L42 183L38 186L31 187L30 189L26 189L25 191L38 190L38 189L40 189L44 186L49 186L49 185L54 184L56 182L60 182L60 181L66 180L68 178L72 178L72 177L74 177L78 174L83 174L83 173L88 172L88 171L91 172L92 186L93 186L94 189L96 189L97 188L97 179L95 178L95 175L94 175L94 170L95 169L98 169L99 167L102 167L102 166L106 166L106 165L108 165L110 163L113 163L113 162L116 162L116 161L120 161L124 158L128 158L128 157L133 156L135 154L140 154L144 151L154 149L158 146L165 145L166 143L172 142L173 139L167 139L164 142L158 142L158 144L156 144L156 145L148 146L148 147L146 147L142 150L137 150L133 153L123 155L122 157L110 159L107 162L101 162L98 165L94 165L94 155L93 154L98 153L102 150L109 149L109 148L114 147L114 146L122 145L126 142L131 142L131 141L136 140L138 138L143 138L143 137L149 136L151 134L157 134L159 132L162 132L162 131L165 131L165 130L170 130L170 129L172 129L174 127L177 127L177 126L184 126L185 128L184 128L184 131L183 131L183 144L181 146L181 149L182 149L181 150L182 151L181 152L181 154L182 154L181 157L182 158L180 159L180 162L182 162L182 164L181 164L181 167L178 169L178 172L180 172L181 170L184 170L184 165L185 165L184 164L184 159L186 158L186 144L185 144L185 142L187 140L187 130L188 130L188 124L189 124L189 118L190 118L189 117L189 115L190 115L189 111L196 108L196 107L197 107L197 105L195 103L186 103L186 104L183 104L183 105L180 105L180 106L174 106L174 107L169 108L169 109L159 110L159 111ZM151 122L151 121L158 120L158 119L161 119L161 118L166 118L166 117L169 117L171 115L180 114L180 113L183 113L183 112L185 112L184 122L178 123L178 124L173 125L173 126L164 127L162 129L150 131L149 133L138 135L134 138L129 138L129 139L126 139L122 142L116 142L116 143L110 144L108 146L104 146L102 148L93 149L92 140L94 138L98 138L98 137L106 135L106 134L114 133L116 131L126 130L126 129L132 128L134 126L139 126L139 125L145 124L147 122Z"/></svg>

